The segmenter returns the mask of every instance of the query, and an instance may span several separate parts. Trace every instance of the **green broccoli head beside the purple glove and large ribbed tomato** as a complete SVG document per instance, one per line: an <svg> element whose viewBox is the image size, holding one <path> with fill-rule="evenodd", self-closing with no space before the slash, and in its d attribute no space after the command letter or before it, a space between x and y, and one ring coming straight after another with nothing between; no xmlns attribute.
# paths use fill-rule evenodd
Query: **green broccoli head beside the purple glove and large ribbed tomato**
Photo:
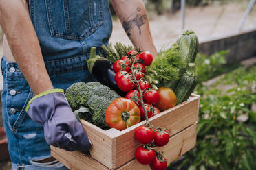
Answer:
<svg viewBox="0 0 256 170"><path fill-rule="evenodd" d="M72 84L72 86L67 88L65 95L72 110L77 110L81 106L92 110L92 123L101 128L107 127L105 123L107 106L109 106L111 101L120 97L118 93L100 84L100 82Z"/></svg>

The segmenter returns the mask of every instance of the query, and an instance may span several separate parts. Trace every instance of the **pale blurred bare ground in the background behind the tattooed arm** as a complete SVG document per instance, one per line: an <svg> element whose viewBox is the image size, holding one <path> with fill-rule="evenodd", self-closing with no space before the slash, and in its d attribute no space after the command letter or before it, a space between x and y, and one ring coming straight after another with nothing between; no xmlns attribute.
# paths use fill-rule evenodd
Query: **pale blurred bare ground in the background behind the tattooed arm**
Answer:
<svg viewBox="0 0 256 170"><path fill-rule="evenodd" d="M243 31L256 28L256 5L244 23ZM241 3L231 5L211 5L198 8L186 8L185 27L191 28L198 35L199 41L220 38L228 34L237 33L239 23L242 21L246 7ZM180 12L156 16L148 13L149 25L156 48L160 50L164 45L174 43L182 32ZM113 22L113 34L110 42L131 44L122 29L120 21ZM2 56L0 43L0 56ZM2 77L0 77L0 80ZM0 81L0 86L1 86ZM0 162L0 170L10 170L10 161Z"/></svg>

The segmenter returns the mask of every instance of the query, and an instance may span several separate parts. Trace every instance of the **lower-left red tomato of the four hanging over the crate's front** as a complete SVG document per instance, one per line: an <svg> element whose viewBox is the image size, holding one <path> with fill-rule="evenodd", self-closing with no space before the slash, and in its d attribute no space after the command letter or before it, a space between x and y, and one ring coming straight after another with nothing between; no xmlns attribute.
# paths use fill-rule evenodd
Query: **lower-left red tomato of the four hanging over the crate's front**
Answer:
<svg viewBox="0 0 256 170"><path fill-rule="evenodd" d="M135 151L135 158L140 164L149 165L156 157L154 149L145 149L140 146Z"/></svg>

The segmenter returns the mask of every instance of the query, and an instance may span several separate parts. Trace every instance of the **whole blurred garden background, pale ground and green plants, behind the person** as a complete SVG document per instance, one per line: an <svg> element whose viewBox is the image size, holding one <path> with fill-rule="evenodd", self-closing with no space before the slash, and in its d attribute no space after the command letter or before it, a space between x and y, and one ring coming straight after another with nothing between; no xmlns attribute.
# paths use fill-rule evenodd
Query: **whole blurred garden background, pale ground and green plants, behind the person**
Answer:
<svg viewBox="0 0 256 170"><path fill-rule="evenodd" d="M143 1L156 48L169 47L182 32L181 1ZM184 28L193 29L200 42L194 91L201 96L200 121L196 146L168 169L256 169L256 2L185 2ZM111 3L110 8L110 42L131 45ZM8 158L0 161L1 169L10 169Z"/></svg>

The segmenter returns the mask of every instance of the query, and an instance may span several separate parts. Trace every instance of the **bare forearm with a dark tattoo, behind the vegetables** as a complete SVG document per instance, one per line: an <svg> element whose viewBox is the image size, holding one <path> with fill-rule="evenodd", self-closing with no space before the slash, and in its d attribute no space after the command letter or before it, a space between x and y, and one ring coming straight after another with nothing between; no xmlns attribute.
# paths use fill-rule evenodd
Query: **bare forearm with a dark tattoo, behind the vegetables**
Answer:
<svg viewBox="0 0 256 170"><path fill-rule="evenodd" d="M140 50L150 51L156 57L149 21L142 0L112 0L118 18L133 45Z"/></svg>

